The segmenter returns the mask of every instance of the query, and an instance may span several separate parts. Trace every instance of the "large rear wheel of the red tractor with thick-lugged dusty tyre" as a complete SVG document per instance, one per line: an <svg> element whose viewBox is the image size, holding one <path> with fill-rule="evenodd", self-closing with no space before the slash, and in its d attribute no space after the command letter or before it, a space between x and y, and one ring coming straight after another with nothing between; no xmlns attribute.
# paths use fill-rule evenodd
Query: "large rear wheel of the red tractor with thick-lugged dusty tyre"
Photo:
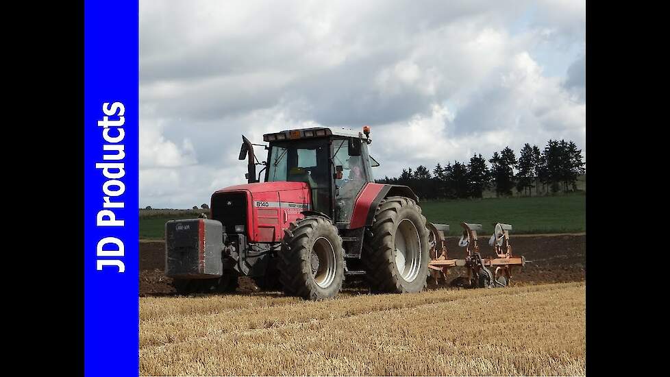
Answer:
<svg viewBox="0 0 670 377"><path fill-rule="evenodd" d="M409 221L411 226L405 221ZM400 253L400 245L396 251L396 234L401 232L399 240L404 240L406 237L402 234L405 234L407 229L411 234L415 231L419 241L418 244L405 247L412 255L410 260L416 263L412 262L411 265L400 263L404 266L403 271L400 271L396 259ZM371 232L372 234L367 234L364 239L364 255L361 258L366 265L366 276L371 291L373 293L423 291L427 286L427 276L430 274L428 269L430 255L428 230L425 227L425 217L421 215L421 207L406 197L388 197L377 207ZM403 260L407 263L408 259L403 256L400 261Z"/></svg>

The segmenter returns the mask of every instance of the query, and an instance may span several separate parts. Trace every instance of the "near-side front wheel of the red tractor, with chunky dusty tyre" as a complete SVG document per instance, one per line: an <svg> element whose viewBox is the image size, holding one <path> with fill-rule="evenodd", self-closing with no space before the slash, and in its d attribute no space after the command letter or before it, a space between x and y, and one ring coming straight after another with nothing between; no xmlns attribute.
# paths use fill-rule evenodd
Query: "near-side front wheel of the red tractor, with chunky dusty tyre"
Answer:
<svg viewBox="0 0 670 377"><path fill-rule="evenodd" d="M310 216L290 223L277 254L277 269L286 295L323 300L335 297L342 289L345 276L342 238L325 217Z"/></svg>

